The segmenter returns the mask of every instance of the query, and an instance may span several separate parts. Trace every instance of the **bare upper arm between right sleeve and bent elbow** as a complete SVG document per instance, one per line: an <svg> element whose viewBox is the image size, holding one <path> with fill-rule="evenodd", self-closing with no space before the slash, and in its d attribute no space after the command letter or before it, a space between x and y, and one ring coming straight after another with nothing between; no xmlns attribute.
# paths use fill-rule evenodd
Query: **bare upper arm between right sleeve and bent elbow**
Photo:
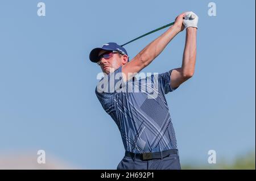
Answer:
<svg viewBox="0 0 256 181"><path fill-rule="evenodd" d="M171 73L171 87L179 87L181 83L187 81L187 77L184 76L181 68L173 69Z"/></svg>

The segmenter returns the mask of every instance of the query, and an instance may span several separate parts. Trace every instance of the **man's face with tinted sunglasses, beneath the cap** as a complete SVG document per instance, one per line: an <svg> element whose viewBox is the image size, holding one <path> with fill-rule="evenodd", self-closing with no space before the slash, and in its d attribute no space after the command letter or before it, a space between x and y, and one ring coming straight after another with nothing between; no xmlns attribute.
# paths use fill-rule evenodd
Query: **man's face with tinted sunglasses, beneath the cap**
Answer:
<svg viewBox="0 0 256 181"><path fill-rule="evenodd" d="M109 54L110 51L101 50L98 55L101 56L102 54L105 54L105 53ZM101 60L99 60L98 64L100 64L101 70L104 73L109 74L110 71L114 71L118 69L120 66L126 64L127 61L125 61L126 58L124 56L126 55L121 55L119 53L111 53L110 58L102 57Z"/></svg>

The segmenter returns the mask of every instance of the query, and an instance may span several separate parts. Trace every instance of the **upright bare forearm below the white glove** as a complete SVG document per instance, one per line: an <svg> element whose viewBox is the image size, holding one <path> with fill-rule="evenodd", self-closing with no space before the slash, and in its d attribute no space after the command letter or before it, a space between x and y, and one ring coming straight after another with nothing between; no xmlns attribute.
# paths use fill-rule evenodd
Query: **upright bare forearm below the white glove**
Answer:
<svg viewBox="0 0 256 181"><path fill-rule="evenodd" d="M185 77L192 77L196 65L196 32L197 28L188 27L181 70Z"/></svg>

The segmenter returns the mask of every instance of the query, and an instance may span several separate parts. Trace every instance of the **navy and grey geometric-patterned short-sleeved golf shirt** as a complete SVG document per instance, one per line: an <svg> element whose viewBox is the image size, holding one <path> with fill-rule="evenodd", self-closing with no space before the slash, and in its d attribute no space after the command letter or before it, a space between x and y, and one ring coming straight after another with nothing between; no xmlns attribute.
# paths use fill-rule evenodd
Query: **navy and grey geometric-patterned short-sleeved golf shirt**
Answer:
<svg viewBox="0 0 256 181"><path fill-rule="evenodd" d="M105 75L96 87L104 110L117 124L126 151L147 153L177 149L165 94L171 72L122 81L122 66Z"/></svg>

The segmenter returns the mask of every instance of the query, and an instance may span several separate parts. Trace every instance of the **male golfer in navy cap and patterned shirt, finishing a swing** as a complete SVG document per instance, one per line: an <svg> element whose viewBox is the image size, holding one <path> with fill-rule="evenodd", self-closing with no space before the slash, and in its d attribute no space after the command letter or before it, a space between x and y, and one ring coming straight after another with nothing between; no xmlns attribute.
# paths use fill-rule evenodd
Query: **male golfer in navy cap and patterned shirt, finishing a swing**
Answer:
<svg viewBox="0 0 256 181"><path fill-rule="evenodd" d="M126 150L117 169L181 169L164 94L176 90L194 74L197 22L193 12L180 14L172 27L131 61L126 50L116 43L104 44L90 52L90 60L97 62L105 73L96 87L97 98L117 124ZM134 75L149 65L184 28L182 66L136 79Z"/></svg>

